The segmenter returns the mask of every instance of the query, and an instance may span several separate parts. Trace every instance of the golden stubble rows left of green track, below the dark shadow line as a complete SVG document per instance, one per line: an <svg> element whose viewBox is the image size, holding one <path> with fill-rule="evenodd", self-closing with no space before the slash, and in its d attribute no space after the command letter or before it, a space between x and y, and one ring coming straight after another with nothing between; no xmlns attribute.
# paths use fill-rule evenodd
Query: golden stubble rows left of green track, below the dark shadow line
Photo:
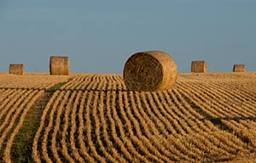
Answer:
<svg viewBox="0 0 256 163"><path fill-rule="evenodd" d="M0 160L11 162L10 153L15 136L20 131L28 110L44 91L8 89L0 92L3 92L0 104Z"/></svg>

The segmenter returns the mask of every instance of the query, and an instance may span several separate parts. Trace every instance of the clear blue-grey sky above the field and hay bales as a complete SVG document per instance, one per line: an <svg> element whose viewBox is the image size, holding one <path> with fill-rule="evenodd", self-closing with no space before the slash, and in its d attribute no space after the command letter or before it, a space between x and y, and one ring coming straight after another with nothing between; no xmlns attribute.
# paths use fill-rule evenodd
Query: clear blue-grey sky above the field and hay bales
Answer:
<svg viewBox="0 0 256 163"><path fill-rule="evenodd" d="M49 57L64 55L72 72L122 73L147 50L169 53L180 73L192 60L256 71L256 1L0 0L0 71L49 72Z"/></svg>

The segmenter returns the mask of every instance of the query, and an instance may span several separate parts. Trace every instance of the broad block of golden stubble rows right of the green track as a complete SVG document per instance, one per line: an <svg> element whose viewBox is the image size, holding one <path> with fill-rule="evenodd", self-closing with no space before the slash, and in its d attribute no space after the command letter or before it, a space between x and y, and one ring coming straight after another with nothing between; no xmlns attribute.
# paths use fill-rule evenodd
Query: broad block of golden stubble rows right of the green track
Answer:
<svg viewBox="0 0 256 163"><path fill-rule="evenodd" d="M250 154L255 95L243 89L252 85L195 78L170 91L137 93L121 76L76 76L50 98L33 159L197 162Z"/></svg>

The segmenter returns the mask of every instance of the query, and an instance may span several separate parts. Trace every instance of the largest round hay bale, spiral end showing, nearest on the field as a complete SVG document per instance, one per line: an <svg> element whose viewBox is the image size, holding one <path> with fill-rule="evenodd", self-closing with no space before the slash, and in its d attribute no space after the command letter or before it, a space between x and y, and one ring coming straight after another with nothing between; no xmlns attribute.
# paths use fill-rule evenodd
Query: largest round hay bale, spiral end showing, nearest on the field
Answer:
<svg viewBox="0 0 256 163"><path fill-rule="evenodd" d="M177 65L162 51L133 54L125 63L125 85L133 91L163 91L177 81Z"/></svg>

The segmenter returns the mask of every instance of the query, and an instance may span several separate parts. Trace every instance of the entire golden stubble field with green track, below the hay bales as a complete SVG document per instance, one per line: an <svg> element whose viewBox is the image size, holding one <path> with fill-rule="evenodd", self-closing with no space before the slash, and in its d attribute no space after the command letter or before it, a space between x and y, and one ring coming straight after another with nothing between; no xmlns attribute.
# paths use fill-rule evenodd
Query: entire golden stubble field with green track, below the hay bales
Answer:
<svg viewBox="0 0 256 163"><path fill-rule="evenodd" d="M0 74L0 162L255 162L255 154L256 72L179 74L172 90L143 93L120 75Z"/></svg>

